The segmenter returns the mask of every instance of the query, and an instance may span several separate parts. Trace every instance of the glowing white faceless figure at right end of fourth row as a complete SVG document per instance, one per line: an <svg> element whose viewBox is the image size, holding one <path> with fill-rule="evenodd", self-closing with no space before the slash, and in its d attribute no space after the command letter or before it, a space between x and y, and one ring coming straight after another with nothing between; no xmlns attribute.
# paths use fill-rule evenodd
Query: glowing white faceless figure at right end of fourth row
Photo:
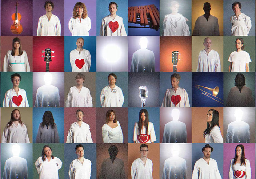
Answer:
<svg viewBox="0 0 256 179"><path fill-rule="evenodd" d="M228 124L226 143L250 143L250 126L242 121L243 114L240 108L235 110L236 121Z"/></svg>

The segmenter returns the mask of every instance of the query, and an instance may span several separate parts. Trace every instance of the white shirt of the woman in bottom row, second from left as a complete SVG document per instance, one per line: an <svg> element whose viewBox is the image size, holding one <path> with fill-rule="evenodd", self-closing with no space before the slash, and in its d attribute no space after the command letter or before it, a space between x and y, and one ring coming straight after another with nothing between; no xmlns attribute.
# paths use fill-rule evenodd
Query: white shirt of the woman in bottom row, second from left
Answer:
<svg viewBox="0 0 256 179"><path fill-rule="evenodd" d="M39 157L35 166L37 173L40 174L39 179L58 179L58 170L60 170L62 162L58 157L51 158L49 162L47 158L43 161L42 157Z"/></svg>

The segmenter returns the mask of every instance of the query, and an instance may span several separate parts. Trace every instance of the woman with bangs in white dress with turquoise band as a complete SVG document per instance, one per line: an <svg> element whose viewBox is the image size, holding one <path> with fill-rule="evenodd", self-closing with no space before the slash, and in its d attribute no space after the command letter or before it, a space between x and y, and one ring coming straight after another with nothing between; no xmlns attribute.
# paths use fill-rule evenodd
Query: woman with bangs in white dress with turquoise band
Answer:
<svg viewBox="0 0 256 179"><path fill-rule="evenodd" d="M22 50L21 41L18 37L12 40L12 50L7 51L3 62L4 72L30 72L28 56Z"/></svg>

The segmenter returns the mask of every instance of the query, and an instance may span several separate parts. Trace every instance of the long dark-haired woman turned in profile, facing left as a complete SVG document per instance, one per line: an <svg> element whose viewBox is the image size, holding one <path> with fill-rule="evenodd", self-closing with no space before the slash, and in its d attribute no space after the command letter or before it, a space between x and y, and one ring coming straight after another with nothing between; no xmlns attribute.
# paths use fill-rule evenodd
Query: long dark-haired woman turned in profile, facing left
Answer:
<svg viewBox="0 0 256 179"><path fill-rule="evenodd" d="M203 132L205 143L223 143L220 133L219 112L210 109L207 113L207 128Z"/></svg>

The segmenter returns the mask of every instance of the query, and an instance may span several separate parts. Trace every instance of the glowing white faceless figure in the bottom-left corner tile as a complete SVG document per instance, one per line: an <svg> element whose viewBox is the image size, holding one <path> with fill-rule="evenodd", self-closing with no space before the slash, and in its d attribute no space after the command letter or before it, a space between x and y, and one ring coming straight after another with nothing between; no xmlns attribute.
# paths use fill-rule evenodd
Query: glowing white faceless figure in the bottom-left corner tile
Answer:
<svg viewBox="0 0 256 179"><path fill-rule="evenodd" d="M12 146L13 156L5 161L3 170L3 179L11 178L28 178L27 160L19 157L20 146L15 144Z"/></svg>

